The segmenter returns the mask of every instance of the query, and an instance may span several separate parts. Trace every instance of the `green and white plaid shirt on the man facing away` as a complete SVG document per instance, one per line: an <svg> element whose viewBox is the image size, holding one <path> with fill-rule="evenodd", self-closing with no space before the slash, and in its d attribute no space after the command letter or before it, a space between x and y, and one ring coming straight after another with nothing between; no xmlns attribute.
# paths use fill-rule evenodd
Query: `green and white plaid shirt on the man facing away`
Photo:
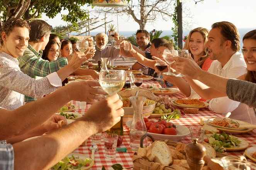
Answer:
<svg viewBox="0 0 256 170"><path fill-rule="evenodd" d="M29 75L32 78L40 79L47 75L57 72L60 68L68 64L66 57L59 57L55 61L49 62L41 58L41 54L38 53L30 44L25 50L22 57L17 58L19 60L20 70ZM36 99L25 96L25 102L31 102Z"/></svg>

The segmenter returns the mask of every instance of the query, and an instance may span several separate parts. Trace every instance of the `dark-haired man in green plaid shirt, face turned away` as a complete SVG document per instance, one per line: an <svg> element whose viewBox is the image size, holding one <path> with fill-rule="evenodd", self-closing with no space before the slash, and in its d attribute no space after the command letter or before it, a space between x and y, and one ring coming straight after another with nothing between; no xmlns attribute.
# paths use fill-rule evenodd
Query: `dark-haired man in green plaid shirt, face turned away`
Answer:
<svg viewBox="0 0 256 170"><path fill-rule="evenodd" d="M76 64L75 62L71 62L71 60L74 61L78 54L81 55L81 53L74 53L73 57L71 55L68 57L58 57L57 60L51 62L42 59L39 51L44 50L47 43L49 42L52 27L43 20L34 20L29 23L29 25L31 26L31 30L29 32L29 37L31 37L29 39L29 45L25 49L23 56L17 58L19 60L20 70L22 72L37 80L41 77L46 77L50 73L57 72L61 68L65 67L66 65L68 65L68 60L71 67L73 67L73 64ZM77 69L82 68L76 67L75 70L66 70L68 71L66 72L68 73L66 77ZM81 75L93 76L93 74L95 74L94 70L86 70L86 72L84 70L85 69L82 69ZM25 96L25 102L31 102L34 100L36 99Z"/></svg>

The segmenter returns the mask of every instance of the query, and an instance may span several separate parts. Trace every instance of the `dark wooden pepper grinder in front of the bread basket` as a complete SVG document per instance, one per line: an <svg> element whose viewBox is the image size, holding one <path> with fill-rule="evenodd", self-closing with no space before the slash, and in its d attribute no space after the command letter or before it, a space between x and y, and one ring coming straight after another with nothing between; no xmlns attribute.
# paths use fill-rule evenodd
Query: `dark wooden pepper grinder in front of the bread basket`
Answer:
<svg viewBox="0 0 256 170"><path fill-rule="evenodd" d="M193 143L186 146L186 161L191 170L202 170L204 161L203 157L206 154L205 147L197 143L197 138L193 138Z"/></svg>

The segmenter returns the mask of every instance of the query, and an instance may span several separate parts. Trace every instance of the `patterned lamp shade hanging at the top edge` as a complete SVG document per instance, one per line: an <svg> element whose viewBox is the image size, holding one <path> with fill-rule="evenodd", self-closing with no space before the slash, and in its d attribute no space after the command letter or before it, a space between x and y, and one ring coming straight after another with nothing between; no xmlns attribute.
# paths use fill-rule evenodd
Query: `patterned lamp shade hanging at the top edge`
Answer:
<svg viewBox="0 0 256 170"><path fill-rule="evenodd" d="M93 7L123 7L126 6L125 0L95 0Z"/></svg>

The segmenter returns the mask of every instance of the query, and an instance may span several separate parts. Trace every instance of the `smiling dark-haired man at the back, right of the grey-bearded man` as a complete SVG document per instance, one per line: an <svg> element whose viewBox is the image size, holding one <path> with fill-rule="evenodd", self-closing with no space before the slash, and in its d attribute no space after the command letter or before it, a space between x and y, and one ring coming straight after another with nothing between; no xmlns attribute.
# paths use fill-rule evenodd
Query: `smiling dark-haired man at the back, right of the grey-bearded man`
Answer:
<svg viewBox="0 0 256 170"><path fill-rule="evenodd" d="M139 45L138 48L144 52L150 53L150 35L147 30L137 30L136 32L136 41ZM143 65L142 63L136 62L132 65L132 70L139 70L143 71L144 74L148 75L149 68Z"/></svg>

